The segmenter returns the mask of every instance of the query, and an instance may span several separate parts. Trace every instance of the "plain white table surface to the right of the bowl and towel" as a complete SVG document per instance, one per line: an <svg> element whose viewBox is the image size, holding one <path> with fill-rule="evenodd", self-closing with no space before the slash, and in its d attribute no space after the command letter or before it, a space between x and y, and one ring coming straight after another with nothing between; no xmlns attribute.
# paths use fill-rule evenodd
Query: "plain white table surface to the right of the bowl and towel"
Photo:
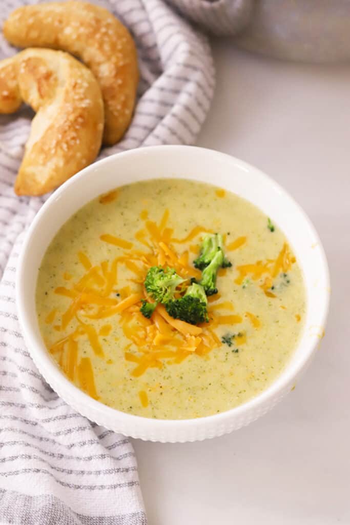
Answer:
<svg viewBox="0 0 350 525"><path fill-rule="evenodd" d="M257 422L201 443L134 440L149 525L350 524L350 65L214 43L216 95L198 145L271 175L313 221L331 270L321 350Z"/></svg>

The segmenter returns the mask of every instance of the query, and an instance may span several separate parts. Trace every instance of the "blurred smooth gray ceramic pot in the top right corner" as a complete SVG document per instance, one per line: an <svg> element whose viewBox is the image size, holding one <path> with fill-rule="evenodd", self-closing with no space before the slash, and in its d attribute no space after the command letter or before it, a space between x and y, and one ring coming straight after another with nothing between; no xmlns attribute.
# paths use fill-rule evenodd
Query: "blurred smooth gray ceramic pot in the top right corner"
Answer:
<svg viewBox="0 0 350 525"><path fill-rule="evenodd" d="M237 37L245 49L290 60L350 59L349 0L256 0Z"/></svg>

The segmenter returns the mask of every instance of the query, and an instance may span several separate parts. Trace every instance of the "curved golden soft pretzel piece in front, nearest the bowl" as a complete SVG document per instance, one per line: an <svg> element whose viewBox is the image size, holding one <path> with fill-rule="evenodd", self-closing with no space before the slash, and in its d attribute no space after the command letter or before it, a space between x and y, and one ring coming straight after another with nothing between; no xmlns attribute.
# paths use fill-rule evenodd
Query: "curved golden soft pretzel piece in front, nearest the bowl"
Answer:
<svg viewBox="0 0 350 525"><path fill-rule="evenodd" d="M42 195L90 164L100 149L103 101L91 71L62 51L25 49L0 61L0 113L27 102L36 116L15 182Z"/></svg>

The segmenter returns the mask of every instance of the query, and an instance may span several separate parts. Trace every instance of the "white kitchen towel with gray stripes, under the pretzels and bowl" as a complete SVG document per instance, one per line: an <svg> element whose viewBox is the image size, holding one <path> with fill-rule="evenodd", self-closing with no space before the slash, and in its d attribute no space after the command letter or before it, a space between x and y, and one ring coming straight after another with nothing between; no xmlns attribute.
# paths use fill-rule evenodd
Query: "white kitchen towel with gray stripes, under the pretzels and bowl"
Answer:
<svg viewBox="0 0 350 525"><path fill-rule="evenodd" d="M2 0L0 21L17 5ZM128 133L102 156L142 145L192 143L214 90L206 39L161 0L103 5L132 30L142 79ZM13 53L0 37L0 58ZM145 524L129 440L63 403L31 361L20 333L17 259L25 230L45 200L13 192L31 116L24 108L0 117L0 522Z"/></svg>

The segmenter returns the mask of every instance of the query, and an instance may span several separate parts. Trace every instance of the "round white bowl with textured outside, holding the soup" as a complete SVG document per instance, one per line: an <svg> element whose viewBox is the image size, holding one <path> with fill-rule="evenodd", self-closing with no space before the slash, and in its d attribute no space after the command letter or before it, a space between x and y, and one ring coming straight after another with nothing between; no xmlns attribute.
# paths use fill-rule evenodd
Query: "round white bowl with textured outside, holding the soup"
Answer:
<svg viewBox="0 0 350 525"><path fill-rule="evenodd" d="M306 285L306 320L290 362L272 385L227 412L180 421L125 414L93 400L59 370L41 338L35 288L41 259L58 229L81 206L126 183L160 177L215 184L258 206L288 237ZM31 224L17 272L19 320L30 354L46 381L69 405L92 421L126 436L160 442L185 442L220 436L265 414L295 385L320 343L330 285L320 240L305 213L267 175L234 157L190 146L154 146L112 155L82 170L50 196Z"/></svg>

